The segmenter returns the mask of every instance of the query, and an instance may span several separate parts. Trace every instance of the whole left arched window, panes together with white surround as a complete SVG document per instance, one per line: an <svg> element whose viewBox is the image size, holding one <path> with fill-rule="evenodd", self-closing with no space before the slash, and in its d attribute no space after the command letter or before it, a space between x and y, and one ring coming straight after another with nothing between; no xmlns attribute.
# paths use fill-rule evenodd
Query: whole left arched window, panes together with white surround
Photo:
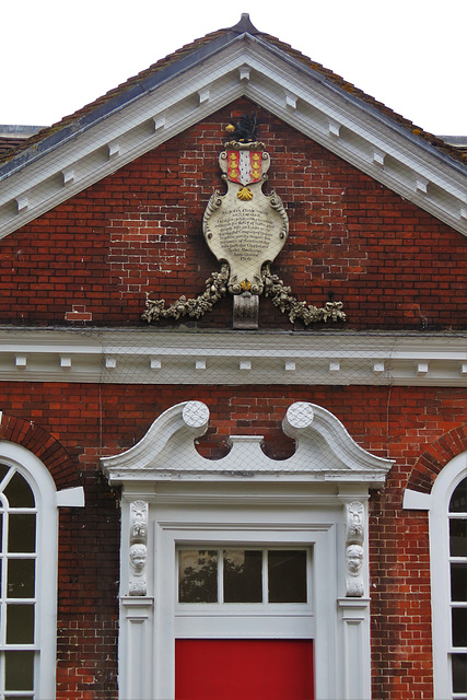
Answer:
<svg viewBox="0 0 467 700"><path fill-rule="evenodd" d="M0 442L0 698L55 698L57 498L31 452Z"/></svg>

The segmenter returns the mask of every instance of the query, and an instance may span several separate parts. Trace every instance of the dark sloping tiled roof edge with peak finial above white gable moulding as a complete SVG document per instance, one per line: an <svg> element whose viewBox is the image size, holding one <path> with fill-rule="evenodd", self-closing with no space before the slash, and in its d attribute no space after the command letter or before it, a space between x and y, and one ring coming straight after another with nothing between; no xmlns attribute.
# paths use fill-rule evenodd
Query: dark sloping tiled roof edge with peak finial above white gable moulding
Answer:
<svg viewBox="0 0 467 700"><path fill-rule="evenodd" d="M290 44L281 42L279 38L271 36L270 34L259 32L249 21L249 15L244 13L242 14L241 21L235 26L218 30L201 38L195 39L190 44L183 46L143 71L140 71L136 75L129 78L117 88L109 90L94 102L84 105L72 115L66 116L57 124L38 131L38 133L31 137L27 142L22 142L14 151L10 151L8 154L0 158L0 180L3 172L7 173L10 170L8 166L3 168L4 162L13 165L12 161L14 161L14 170L16 170L17 166L21 167L31 158L35 158L40 152L54 148L54 145L62 142L69 137L74 137L79 130L95 124L98 119L105 118L115 109L121 108L132 100L138 98L141 94L161 85L164 80L168 80L174 77L174 74L182 72L186 67L192 66L194 62L202 60L208 55L212 55L215 50L226 46L226 44L237 38L238 35L243 33L250 34L252 36L256 36L257 38L267 42L267 44L271 46L276 46L280 51L288 54L293 59L299 60L305 67L315 71L315 73L322 75L328 84L334 84L340 90L343 90L349 98L357 98L364 102L367 106L373 107L375 114L387 117L393 122L393 126L394 122L396 122L410 131L413 136L420 137L420 139L423 139L427 143L435 147L439 151L450 155L454 160L465 163L466 159L464 154L459 152L459 149L453 148L436 136L415 126L409 119L406 119L401 115L393 112L382 102L378 102L371 95L367 95L337 73L334 73L331 70L316 61L313 61L301 51L292 48ZM32 149L32 147L35 148Z"/></svg>

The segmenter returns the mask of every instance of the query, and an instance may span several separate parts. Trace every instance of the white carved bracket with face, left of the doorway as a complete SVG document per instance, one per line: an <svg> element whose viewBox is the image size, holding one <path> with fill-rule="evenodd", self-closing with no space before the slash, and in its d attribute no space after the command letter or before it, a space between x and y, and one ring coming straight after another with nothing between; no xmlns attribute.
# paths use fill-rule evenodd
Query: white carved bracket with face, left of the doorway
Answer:
<svg viewBox="0 0 467 700"><path fill-rule="evenodd" d="M148 503L130 504L129 595L147 595Z"/></svg>

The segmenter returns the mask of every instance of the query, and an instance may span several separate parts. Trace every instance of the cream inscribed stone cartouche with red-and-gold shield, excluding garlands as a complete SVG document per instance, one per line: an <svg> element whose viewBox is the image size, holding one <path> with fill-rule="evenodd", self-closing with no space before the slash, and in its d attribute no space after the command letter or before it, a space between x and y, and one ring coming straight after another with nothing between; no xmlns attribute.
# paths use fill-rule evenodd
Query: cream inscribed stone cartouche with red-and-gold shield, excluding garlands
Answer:
<svg viewBox="0 0 467 700"><path fill-rule="evenodd" d="M289 233L280 197L262 192L270 159L261 147L227 144L219 158L227 191L212 195L202 222L208 246L229 265L227 287L233 294L262 292L261 267L276 258Z"/></svg>

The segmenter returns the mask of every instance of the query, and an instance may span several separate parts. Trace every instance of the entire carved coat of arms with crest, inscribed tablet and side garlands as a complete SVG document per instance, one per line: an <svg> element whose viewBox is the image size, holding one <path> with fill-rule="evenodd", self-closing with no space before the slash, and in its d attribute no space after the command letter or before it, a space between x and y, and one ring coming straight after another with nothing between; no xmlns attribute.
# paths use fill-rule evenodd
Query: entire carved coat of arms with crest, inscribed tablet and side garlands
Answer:
<svg viewBox="0 0 467 700"><path fill-rule="evenodd" d="M221 264L220 272L212 272L206 291L196 299L180 296L165 307L165 300L147 299L142 318L189 316L200 318L227 292L233 295L234 328L257 328L259 296L270 296L275 306L305 325L318 320L345 320L341 302L327 302L323 308L299 302L291 288L270 272L270 264L281 252L288 235L289 220L280 197L272 191L265 195L270 156L265 144L256 140L256 117L244 115L232 121L226 131L234 140L225 143L219 156L222 179L227 191L215 190L202 220L205 240Z"/></svg>

